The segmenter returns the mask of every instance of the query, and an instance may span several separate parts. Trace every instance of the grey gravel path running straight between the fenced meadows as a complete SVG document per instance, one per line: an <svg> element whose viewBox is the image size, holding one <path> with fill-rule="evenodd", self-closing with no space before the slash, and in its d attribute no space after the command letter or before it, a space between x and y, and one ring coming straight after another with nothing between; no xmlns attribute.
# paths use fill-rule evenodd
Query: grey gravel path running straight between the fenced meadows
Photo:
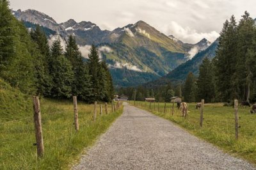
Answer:
<svg viewBox="0 0 256 170"><path fill-rule="evenodd" d="M125 104L73 169L255 169L181 128Z"/></svg>

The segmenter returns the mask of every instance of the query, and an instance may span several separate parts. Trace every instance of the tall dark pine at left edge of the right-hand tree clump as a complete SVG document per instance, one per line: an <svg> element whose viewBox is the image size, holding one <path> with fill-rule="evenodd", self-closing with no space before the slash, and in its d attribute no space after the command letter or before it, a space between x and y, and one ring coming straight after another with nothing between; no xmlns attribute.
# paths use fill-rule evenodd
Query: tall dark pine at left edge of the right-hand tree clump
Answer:
<svg viewBox="0 0 256 170"><path fill-rule="evenodd" d="M220 98L227 101L237 97L237 88L233 83L233 75L236 68L236 20L234 15L230 18L230 22L226 20L220 33L219 44L214 58L214 66L216 68L216 84L220 92Z"/></svg>

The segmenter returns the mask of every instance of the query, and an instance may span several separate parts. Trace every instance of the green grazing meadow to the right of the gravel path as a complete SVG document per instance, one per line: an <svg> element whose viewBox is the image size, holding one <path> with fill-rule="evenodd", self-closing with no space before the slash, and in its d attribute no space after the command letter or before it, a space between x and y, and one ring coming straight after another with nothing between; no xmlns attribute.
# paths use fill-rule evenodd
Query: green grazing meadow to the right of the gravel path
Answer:
<svg viewBox="0 0 256 170"><path fill-rule="evenodd" d="M130 104L134 104L130 102ZM188 117L181 116L179 109L175 104L174 114L172 116L172 104L166 104L167 109L164 114L164 104L151 105L145 102L136 102L136 107L146 109L157 116L177 123L182 128L188 130L209 143L215 144L222 150L242 157L253 164L256 164L256 114L250 114L250 108L239 108L239 139L235 139L235 120L234 108L223 107L223 104L205 104L204 122L200 128L200 109L195 109L196 104L189 104Z"/></svg>

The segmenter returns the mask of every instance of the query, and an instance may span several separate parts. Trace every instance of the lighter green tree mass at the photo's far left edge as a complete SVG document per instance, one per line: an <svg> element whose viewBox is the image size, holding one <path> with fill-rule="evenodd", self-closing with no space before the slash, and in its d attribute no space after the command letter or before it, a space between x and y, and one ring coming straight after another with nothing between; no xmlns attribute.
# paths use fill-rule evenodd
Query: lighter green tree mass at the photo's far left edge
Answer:
<svg viewBox="0 0 256 170"><path fill-rule="evenodd" d="M0 76L24 93L35 93L35 48L26 28L0 1Z"/></svg>

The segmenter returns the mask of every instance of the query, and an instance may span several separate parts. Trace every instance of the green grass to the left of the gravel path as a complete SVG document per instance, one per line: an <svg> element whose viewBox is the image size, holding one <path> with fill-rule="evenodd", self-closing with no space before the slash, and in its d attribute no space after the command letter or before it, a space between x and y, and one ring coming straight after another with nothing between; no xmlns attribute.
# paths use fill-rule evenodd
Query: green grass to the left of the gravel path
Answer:
<svg viewBox="0 0 256 170"><path fill-rule="evenodd" d="M33 146L35 129L32 110L19 114L17 120L6 120L6 114L0 112L0 116L4 117L4 121L0 122L0 169L69 169L79 160L84 148L95 143L97 137L122 114L122 108L103 116L97 114L97 121L93 123L93 105L78 102L79 132L76 132L71 101L42 99L40 105L44 157L37 158L36 146Z"/></svg>

